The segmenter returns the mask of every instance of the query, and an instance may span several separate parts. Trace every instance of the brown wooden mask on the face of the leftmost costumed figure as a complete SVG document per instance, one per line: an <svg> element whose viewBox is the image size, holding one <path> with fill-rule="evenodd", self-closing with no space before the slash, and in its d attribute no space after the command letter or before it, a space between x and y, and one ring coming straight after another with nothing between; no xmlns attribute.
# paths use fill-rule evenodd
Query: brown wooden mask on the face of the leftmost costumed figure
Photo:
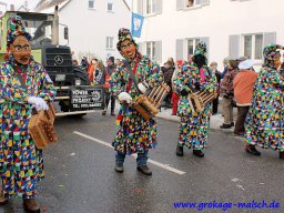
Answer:
<svg viewBox="0 0 284 213"><path fill-rule="evenodd" d="M24 36L18 36L9 47L14 60L20 64L28 64L31 57L31 43Z"/></svg>

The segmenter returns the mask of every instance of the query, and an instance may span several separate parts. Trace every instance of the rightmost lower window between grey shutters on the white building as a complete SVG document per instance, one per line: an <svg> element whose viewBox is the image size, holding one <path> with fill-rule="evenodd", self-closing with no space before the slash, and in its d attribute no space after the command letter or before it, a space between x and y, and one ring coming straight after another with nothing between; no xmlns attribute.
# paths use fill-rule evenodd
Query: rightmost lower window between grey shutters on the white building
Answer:
<svg viewBox="0 0 284 213"><path fill-rule="evenodd" d="M247 34L244 39L244 55L250 59L261 60L263 50L263 34Z"/></svg>

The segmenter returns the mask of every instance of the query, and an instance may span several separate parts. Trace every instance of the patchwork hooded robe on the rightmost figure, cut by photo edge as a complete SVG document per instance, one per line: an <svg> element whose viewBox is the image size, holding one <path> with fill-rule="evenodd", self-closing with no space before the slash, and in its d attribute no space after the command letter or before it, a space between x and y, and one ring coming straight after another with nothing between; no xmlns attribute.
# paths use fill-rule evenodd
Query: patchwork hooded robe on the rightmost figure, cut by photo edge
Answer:
<svg viewBox="0 0 284 213"><path fill-rule="evenodd" d="M264 65L253 89L252 106L246 116L246 143L284 152L284 78L274 59L280 45L264 49Z"/></svg>

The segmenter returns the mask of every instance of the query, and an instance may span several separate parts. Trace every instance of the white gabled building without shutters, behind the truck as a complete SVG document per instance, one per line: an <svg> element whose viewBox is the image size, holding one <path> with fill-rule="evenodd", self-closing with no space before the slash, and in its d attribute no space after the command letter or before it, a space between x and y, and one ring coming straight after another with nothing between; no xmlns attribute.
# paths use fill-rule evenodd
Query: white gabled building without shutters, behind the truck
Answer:
<svg viewBox="0 0 284 213"><path fill-rule="evenodd" d="M79 58L83 54L105 59L121 58L116 50L120 28L130 28L131 12L123 0L48 0L40 12L53 12L59 3L59 21L69 28L69 45ZM62 34L62 33L61 33ZM65 41L61 40L65 44Z"/></svg>

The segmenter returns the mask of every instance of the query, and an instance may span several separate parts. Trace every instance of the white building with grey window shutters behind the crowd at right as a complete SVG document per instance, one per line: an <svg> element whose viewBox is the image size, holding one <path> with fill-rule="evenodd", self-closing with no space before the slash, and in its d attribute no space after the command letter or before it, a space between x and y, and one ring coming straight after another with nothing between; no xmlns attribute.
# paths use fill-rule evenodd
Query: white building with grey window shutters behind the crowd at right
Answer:
<svg viewBox="0 0 284 213"><path fill-rule="evenodd" d="M262 62L268 43L284 44L283 0L133 0L145 17L140 49L160 62L185 60L197 41L209 60L222 67L225 57L246 55Z"/></svg>

